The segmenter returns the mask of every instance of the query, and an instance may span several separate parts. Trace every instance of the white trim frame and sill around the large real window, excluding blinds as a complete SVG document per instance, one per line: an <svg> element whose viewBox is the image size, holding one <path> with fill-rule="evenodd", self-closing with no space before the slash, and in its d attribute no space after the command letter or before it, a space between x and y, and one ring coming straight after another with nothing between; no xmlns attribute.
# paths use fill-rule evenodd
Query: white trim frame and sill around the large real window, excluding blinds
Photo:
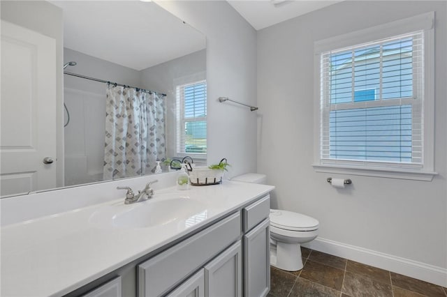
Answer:
<svg viewBox="0 0 447 297"><path fill-rule="evenodd" d="M321 158L321 54L330 50L355 47L374 40L400 36L423 30L423 164L406 165L374 161L335 160ZM314 170L333 174L353 174L432 181L434 172L434 12L408 17L314 43ZM386 163L386 164L385 164Z"/></svg>

